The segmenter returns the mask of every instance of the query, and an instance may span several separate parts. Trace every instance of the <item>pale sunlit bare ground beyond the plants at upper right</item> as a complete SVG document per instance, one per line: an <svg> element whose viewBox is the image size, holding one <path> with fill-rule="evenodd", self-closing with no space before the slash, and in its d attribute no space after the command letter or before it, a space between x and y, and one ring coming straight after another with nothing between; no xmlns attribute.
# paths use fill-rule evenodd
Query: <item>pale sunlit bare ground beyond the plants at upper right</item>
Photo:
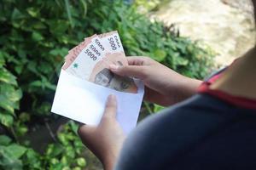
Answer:
<svg viewBox="0 0 256 170"><path fill-rule="evenodd" d="M150 16L175 24L184 37L206 42L218 53L218 65L230 64L255 43L249 0L169 0Z"/></svg>

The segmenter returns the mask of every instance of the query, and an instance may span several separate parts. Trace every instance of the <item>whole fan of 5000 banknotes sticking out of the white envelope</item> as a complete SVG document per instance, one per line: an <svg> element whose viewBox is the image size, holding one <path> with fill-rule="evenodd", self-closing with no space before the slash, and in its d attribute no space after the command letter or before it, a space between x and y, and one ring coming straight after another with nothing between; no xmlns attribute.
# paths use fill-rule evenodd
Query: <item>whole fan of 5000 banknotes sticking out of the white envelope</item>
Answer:
<svg viewBox="0 0 256 170"><path fill-rule="evenodd" d="M117 31L84 38L84 42L68 52L62 70L106 88L136 94L134 80L113 74L109 65L128 65Z"/></svg>

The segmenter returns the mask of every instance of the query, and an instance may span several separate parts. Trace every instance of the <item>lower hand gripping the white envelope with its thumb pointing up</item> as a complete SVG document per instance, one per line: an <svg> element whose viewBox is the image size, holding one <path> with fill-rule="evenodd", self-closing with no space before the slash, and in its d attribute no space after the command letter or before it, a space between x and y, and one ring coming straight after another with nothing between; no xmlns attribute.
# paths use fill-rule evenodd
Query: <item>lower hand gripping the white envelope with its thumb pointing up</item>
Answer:
<svg viewBox="0 0 256 170"><path fill-rule="evenodd" d="M125 134L115 118L116 111L116 98L110 95L100 124L97 127L83 125L78 130L82 142L102 161L105 170L113 169L125 140Z"/></svg>

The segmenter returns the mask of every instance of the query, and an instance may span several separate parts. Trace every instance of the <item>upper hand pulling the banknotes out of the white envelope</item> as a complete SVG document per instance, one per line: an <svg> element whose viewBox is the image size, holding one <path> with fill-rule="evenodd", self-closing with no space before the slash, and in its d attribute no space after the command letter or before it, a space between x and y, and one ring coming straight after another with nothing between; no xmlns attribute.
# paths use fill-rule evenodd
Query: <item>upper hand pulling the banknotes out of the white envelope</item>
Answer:
<svg viewBox="0 0 256 170"><path fill-rule="evenodd" d="M189 98L201 83L148 57L127 57L127 60L129 65L110 65L110 70L120 76L141 79L146 86L144 99L158 105L173 105Z"/></svg>

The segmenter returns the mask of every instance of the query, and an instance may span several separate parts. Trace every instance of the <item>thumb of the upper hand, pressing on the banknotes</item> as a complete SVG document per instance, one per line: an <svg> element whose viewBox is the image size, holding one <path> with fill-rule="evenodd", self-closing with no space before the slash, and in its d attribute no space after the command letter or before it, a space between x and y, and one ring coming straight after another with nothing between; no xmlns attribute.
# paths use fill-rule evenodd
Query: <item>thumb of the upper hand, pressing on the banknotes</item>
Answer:
<svg viewBox="0 0 256 170"><path fill-rule="evenodd" d="M109 65L110 71L123 77L136 77L143 79L145 77L145 66L144 65Z"/></svg>

